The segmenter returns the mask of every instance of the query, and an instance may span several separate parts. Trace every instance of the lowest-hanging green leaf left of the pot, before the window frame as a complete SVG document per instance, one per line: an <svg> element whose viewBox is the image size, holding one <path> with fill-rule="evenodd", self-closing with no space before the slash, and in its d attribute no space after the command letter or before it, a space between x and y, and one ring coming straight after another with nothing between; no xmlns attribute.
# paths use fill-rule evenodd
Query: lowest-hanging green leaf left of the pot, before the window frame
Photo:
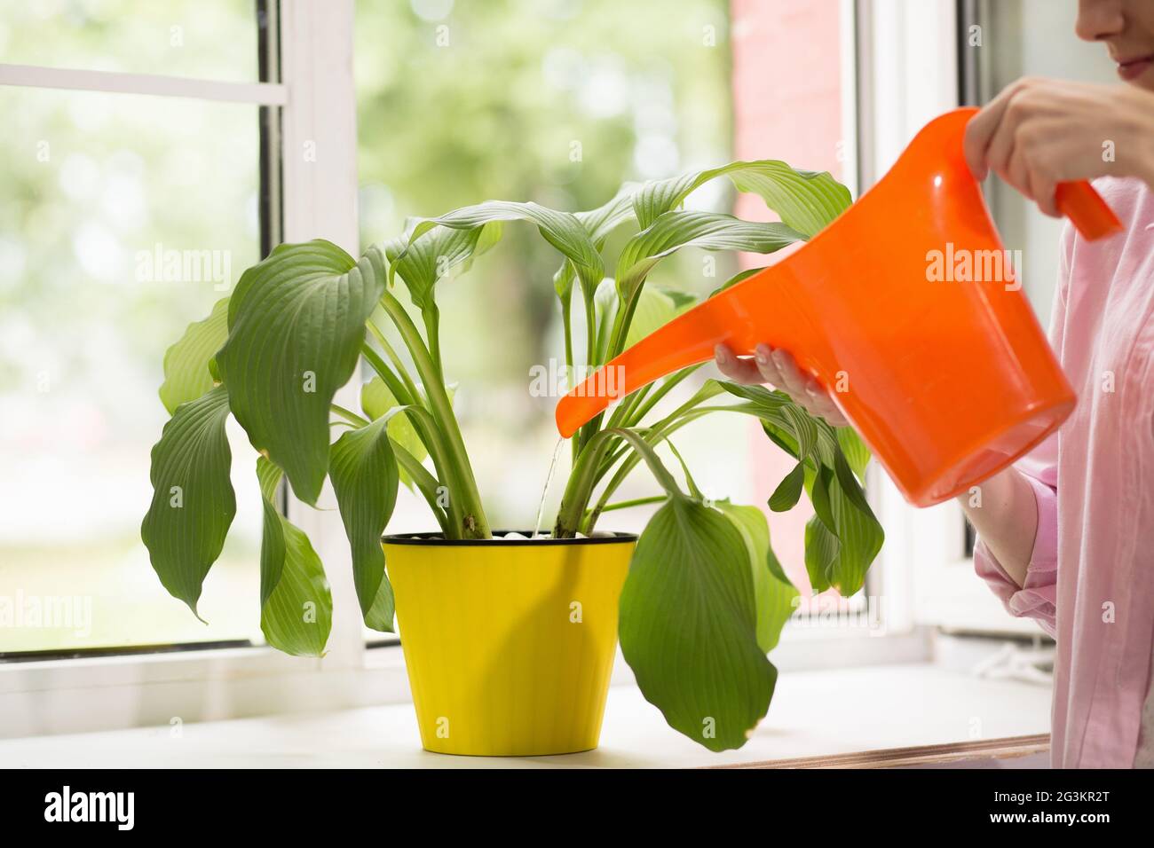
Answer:
<svg viewBox="0 0 1154 848"><path fill-rule="evenodd" d="M293 656L323 656L332 630L332 594L321 557L305 532L273 506L283 472L256 460L264 502L261 542L261 632Z"/></svg>

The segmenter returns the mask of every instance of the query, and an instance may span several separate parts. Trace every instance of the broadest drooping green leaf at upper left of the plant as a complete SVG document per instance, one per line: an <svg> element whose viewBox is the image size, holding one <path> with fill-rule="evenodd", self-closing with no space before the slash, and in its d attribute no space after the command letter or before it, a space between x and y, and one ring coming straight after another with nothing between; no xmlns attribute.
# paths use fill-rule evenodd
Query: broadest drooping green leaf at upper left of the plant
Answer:
<svg viewBox="0 0 1154 848"><path fill-rule="evenodd" d="M230 301L217 365L232 413L306 503L329 467L329 404L357 368L383 291L379 248L353 262L316 240L277 247L241 275Z"/></svg>

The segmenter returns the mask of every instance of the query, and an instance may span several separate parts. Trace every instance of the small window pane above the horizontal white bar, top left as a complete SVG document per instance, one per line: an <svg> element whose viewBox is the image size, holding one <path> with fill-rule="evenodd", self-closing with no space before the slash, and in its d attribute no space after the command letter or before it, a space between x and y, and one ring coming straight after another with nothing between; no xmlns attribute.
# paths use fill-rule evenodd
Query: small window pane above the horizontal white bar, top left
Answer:
<svg viewBox="0 0 1154 848"><path fill-rule="evenodd" d="M256 0L36 0L0 6L0 55L47 65L256 81Z"/></svg>

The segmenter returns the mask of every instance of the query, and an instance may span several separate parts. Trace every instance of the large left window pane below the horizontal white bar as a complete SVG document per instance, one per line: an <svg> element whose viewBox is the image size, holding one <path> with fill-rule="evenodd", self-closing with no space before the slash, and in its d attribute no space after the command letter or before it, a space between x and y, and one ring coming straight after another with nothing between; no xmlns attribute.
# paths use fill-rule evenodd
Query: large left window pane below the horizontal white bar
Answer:
<svg viewBox="0 0 1154 848"><path fill-rule="evenodd" d="M209 626L160 586L140 524L164 352L258 258L257 110L0 88L0 652L253 637L261 501L242 434ZM211 261L186 269L193 252ZM78 625L36 620L59 599Z"/></svg>

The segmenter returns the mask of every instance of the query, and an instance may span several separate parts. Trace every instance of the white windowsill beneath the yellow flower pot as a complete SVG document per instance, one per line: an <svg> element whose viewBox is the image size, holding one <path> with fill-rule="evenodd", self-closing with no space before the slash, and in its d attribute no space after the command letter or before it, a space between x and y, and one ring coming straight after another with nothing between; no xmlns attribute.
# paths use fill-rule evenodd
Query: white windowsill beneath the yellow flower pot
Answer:
<svg viewBox="0 0 1154 848"><path fill-rule="evenodd" d="M685 767L945 745L1049 731L1050 693L931 665L793 671L739 751L711 753L613 686L601 746L555 757L448 757L421 750L412 706L0 741L6 767Z"/></svg>

